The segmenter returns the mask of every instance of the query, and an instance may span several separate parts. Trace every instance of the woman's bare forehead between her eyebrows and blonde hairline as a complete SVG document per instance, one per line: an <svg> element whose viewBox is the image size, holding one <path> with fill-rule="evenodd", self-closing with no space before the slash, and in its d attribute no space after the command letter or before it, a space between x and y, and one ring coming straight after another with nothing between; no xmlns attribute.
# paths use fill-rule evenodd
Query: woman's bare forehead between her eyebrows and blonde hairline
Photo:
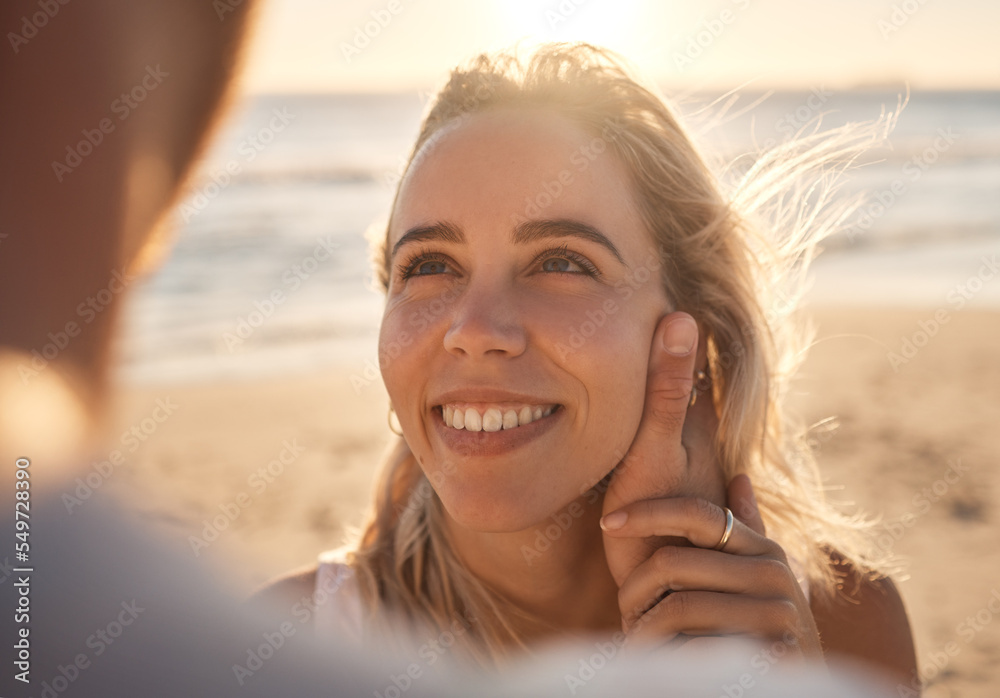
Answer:
<svg viewBox="0 0 1000 698"><path fill-rule="evenodd" d="M401 183L389 244L437 221L471 235L506 235L524 220L552 218L604 231L626 259L651 244L607 133L541 109L497 109L448 125L417 153Z"/></svg>

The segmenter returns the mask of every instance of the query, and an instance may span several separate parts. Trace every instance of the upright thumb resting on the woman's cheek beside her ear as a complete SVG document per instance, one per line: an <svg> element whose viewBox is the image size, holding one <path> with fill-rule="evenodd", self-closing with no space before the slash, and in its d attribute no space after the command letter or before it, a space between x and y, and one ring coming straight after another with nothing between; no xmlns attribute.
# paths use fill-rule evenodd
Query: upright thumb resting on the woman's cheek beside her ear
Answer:
<svg viewBox="0 0 1000 698"><path fill-rule="evenodd" d="M694 386L698 324L684 312L660 320L646 388L643 426L657 437L674 437L680 444Z"/></svg>

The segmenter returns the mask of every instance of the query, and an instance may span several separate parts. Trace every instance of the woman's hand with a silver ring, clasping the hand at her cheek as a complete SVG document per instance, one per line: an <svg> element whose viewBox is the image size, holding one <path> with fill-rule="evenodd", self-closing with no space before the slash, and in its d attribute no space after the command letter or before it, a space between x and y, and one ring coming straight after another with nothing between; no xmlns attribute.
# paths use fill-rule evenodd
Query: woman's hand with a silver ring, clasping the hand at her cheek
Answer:
<svg viewBox="0 0 1000 698"><path fill-rule="evenodd" d="M605 535L614 538L678 536L696 546L659 548L620 585L627 642L665 645L679 635L743 635L822 659L809 602L781 546L764 535L746 475L733 478L727 501L739 516L722 550L714 548L725 530L725 511L703 499L648 499L602 520Z"/></svg>

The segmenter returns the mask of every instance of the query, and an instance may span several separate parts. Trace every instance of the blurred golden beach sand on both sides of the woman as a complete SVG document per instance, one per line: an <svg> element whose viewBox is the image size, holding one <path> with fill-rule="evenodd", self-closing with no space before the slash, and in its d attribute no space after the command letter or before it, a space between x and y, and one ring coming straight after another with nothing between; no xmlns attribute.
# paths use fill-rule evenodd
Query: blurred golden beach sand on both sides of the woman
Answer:
<svg viewBox="0 0 1000 698"><path fill-rule="evenodd" d="M922 343L918 323L934 314L815 310L818 343L792 403L809 422L839 419L819 439L831 496L882 515L883 544L907 564L899 588L927 695L992 697L1000 685L1000 614L988 606L1000 608L1000 314L949 309L947 324L894 367L888 352L900 353L904 337ZM362 385L363 371L358 363L254 382L125 387L113 446L136 443L120 437L143 419L153 424L157 399L176 409L148 436L140 426L143 440L104 486L168 536L212 538L192 554L197 548L248 592L360 524L390 437L384 389ZM220 514L225 530L206 531ZM904 515L905 525L893 524Z"/></svg>

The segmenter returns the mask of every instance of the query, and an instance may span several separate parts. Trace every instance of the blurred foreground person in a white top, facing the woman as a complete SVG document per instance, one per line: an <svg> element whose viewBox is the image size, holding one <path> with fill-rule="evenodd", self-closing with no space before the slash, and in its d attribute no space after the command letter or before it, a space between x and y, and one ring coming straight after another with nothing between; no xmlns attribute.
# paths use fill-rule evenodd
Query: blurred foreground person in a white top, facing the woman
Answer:
<svg viewBox="0 0 1000 698"><path fill-rule="evenodd" d="M105 494L72 513L60 500L101 452L122 294L155 252L163 214L221 113L250 6L18 0L0 8L0 27L16 34L0 57L4 695L450 694L437 677L418 681L400 657L363 654L336 636L313 641L286 604L241 605ZM81 303L92 321L78 321ZM307 599L322 606L319 594L296 602ZM581 657L593 664L593 651L568 647L499 683L471 677L454 695L561 693L566 672ZM752 656L726 655L729 664L711 671L622 657L586 687L593 695L714 696L751 685L768 695L875 694L808 671L751 675Z"/></svg>

